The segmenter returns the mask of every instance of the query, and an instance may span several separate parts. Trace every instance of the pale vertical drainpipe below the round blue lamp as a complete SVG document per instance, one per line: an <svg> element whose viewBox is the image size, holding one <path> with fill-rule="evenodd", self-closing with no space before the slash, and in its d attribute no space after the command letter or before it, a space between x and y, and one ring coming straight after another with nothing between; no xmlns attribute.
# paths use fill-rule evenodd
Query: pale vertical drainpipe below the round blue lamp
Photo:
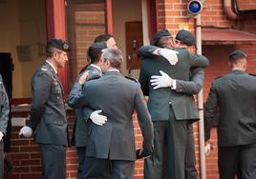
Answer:
<svg viewBox="0 0 256 179"><path fill-rule="evenodd" d="M201 28L201 13L196 17L196 40L197 53L202 54L202 28ZM205 149L204 149L204 121L203 121L203 89L198 94L198 108L199 108L199 140L200 140L200 168L201 179L206 179L205 168Z"/></svg>

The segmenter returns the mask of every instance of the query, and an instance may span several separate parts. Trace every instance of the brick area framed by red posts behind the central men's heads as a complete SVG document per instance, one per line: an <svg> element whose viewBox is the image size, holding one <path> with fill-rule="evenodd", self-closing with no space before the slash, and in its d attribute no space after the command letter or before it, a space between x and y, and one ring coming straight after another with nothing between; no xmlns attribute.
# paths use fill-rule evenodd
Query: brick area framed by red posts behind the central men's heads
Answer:
<svg viewBox="0 0 256 179"><path fill-rule="evenodd" d="M105 5L74 3L68 6L67 13L68 37L71 42L70 80L73 82L78 72L88 64L87 50L96 35L106 32Z"/></svg>

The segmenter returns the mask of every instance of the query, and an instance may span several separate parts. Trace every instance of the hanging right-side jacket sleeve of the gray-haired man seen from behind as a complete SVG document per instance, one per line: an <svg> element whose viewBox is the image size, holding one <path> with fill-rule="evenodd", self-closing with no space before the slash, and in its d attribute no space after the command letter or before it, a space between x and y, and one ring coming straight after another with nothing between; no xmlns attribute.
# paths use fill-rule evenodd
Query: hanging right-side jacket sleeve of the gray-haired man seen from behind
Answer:
<svg viewBox="0 0 256 179"><path fill-rule="evenodd" d="M135 97L135 108L138 113L139 128L143 136L143 149L151 153L153 150L153 124L139 86Z"/></svg>

